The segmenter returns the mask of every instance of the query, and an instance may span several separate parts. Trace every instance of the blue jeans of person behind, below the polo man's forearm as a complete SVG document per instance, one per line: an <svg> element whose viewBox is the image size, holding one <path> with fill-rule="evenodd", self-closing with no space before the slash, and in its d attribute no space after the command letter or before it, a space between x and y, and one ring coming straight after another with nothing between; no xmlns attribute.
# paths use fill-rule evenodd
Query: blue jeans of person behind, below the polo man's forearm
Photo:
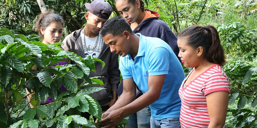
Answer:
<svg viewBox="0 0 257 128"><path fill-rule="evenodd" d="M126 128L150 128L151 110L147 106L142 110L129 115Z"/></svg>

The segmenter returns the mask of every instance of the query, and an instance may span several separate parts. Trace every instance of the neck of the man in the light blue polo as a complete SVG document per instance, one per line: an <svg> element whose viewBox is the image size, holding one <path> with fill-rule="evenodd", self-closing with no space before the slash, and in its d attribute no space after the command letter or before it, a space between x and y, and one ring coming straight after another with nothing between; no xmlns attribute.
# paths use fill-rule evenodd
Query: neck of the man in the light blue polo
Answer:
<svg viewBox="0 0 257 128"><path fill-rule="evenodd" d="M131 45L130 46L132 46L131 47L131 49L130 49L130 54L131 54L131 56L133 57L133 58L135 58L136 57L136 55L137 55L137 53L138 53L138 48L139 48L139 36L137 36L136 34L132 34L132 35L130 35L131 37L130 37L130 43L131 43Z"/></svg>

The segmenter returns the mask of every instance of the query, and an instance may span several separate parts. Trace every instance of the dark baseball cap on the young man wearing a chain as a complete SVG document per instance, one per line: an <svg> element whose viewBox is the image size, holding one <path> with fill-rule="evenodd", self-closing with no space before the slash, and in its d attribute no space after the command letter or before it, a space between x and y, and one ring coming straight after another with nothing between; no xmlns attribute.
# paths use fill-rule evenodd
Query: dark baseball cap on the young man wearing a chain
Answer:
<svg viewBox="0 0 257 128"><path fill-rule="evenodd" d="M85 7L92 14L104 19L108 19L113 12L112 6L105 0L94 0L91 3L85 3ZM106 13L107 16L102 15L103 13Z"/></svg>

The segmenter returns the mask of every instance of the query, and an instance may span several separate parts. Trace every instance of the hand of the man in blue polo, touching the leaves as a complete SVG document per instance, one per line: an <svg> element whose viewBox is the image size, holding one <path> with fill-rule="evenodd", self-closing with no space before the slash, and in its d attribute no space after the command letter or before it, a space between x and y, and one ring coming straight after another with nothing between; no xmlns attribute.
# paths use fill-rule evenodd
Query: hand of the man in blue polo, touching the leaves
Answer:
<svg viewBox="0 0 257 128"><path fill-rule="evenodd" d="M111 112L105 112L102 114L102 120L99 121L98 127L101 128L114 128L119 124L123 117L120 110L114 110Z"/></svg>

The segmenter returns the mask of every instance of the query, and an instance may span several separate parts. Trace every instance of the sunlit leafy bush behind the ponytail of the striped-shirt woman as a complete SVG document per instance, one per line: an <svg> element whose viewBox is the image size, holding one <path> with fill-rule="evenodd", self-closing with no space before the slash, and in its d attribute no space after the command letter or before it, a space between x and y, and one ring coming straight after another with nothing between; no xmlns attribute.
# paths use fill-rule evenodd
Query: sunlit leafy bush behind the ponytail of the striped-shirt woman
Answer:
<svg viewBox="0 0 257 128"><path fill-rule="evenodd" d="M233 22L218 25L217 30L227 53L236 53L236 55L249 61L256 58L257 38L252 37L257 31L256 29L249 31L240 22Z"/></svg>

